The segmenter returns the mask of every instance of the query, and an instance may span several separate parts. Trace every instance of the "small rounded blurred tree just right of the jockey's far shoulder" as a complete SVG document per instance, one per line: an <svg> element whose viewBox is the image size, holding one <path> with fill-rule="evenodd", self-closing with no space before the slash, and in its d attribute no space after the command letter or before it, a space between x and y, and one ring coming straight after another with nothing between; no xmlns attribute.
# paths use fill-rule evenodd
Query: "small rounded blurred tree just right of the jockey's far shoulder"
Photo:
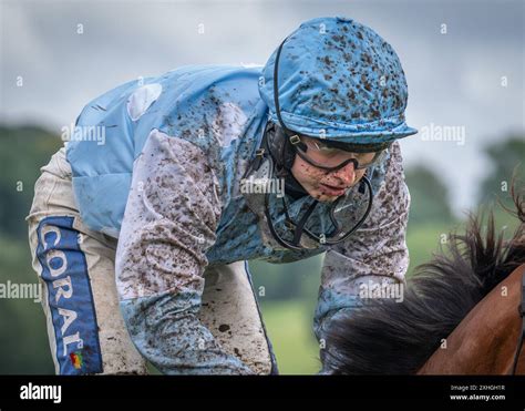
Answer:
<svg viewBox="0 0 525 411"><path fill-rule="evenodd" d="M422 165L408 168L405 179L412 198L410 225L453 222L449 192L431 169Z"/></svg>

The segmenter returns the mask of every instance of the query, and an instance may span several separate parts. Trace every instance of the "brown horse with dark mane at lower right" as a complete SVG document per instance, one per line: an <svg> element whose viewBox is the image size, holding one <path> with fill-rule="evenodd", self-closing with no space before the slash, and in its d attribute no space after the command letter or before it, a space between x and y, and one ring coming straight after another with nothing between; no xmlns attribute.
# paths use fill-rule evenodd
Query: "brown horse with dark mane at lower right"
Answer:
<svg viewBox="0 0 525 411"><path fill-rule="evenodd" d="M333 321L327 373L524 374L525 201L514 188L509 240L496 235L493 210L486 232L483 213L469 214L465 233L414 269L402 302L368 299Z"/></svg>

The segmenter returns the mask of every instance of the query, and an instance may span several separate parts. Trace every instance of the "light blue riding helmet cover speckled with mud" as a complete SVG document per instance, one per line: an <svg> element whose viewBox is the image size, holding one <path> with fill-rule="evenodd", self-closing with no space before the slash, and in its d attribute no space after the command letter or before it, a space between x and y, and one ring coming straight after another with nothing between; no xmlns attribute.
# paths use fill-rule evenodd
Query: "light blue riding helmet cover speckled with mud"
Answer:
<svg viewBox="0 0 525 411"><path fill-rule="evenodd" d="M398 55L354 20L303 22L271 54L262 79L270 120L289 131L353 145L418 132L404 121L408 89Z"/></svg>

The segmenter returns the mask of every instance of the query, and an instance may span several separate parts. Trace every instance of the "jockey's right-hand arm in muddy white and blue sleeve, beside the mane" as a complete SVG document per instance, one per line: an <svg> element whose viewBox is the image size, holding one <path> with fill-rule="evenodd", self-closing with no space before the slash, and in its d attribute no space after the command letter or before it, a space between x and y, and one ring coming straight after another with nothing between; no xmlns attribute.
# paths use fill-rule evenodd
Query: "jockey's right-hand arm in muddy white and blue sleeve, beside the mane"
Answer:
<svg viewBox="0 0 525 411"><path fill-rule="evenodd" d="M403 282L409 267L405 235L410 193L399 143L390 148L384 181L366 223L344 243L327 251L321 271L315 332L323 357L325 331L337 317L363 301L360 285Z"/></svg>

